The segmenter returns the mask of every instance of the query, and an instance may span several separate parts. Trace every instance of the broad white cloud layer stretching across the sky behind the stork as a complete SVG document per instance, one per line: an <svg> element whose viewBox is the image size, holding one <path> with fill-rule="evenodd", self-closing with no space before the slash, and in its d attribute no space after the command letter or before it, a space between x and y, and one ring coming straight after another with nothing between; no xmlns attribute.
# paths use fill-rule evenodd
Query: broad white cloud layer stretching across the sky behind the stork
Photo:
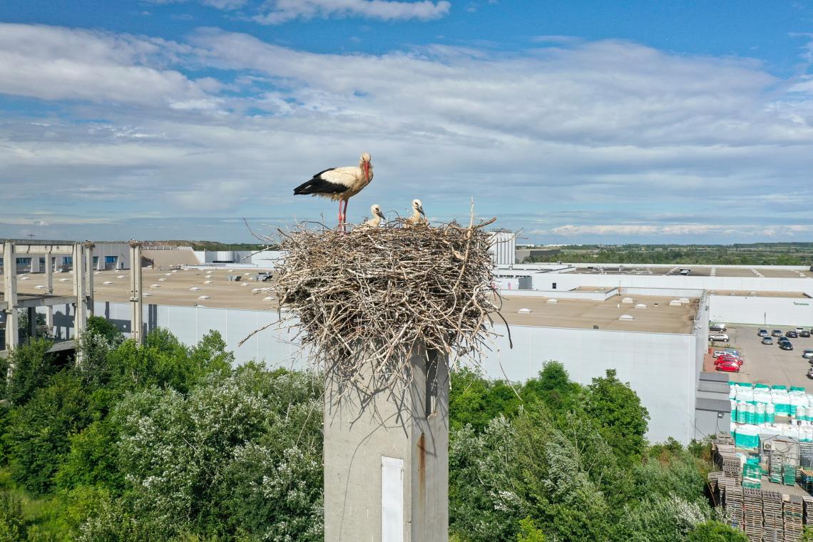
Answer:
<svg viewBox="0 0 813 542"><path fill-rule="evenodd" d="M21 76L0 93L64 113L0 118L0 214L333 217L291 189L367 150L376 182L351 217L421 197L451 219L473 196L500 225L541 215L538 231L568 239L780 238L813 223L813 95L754 61L624 41L314 54L211 28L175 42L4 25L0 68L17 69L9 59ZM721 210L756 225L719 224Z"/></svg>

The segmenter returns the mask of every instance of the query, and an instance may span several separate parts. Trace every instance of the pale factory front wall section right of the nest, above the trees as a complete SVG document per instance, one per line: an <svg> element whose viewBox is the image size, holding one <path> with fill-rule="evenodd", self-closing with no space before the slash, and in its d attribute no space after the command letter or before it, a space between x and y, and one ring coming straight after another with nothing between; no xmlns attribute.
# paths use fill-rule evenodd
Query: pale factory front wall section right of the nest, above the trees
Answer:
<svg viewBox="0 0 813 542"><path fill-rule="evenodd" d="M692 335L614 332L601 329L511 326L514 349L504 326L498 349L483 362L492 378L534 378L546 361L562 362L572 380L590 384L606 369L618 371L650 412L650 441L672 436L686 444L694 436L695 356ZM704 331L705 333L705 331ZM702 336L705 344L706 336ZM655 362L654 360L657 360Z"/></svg>

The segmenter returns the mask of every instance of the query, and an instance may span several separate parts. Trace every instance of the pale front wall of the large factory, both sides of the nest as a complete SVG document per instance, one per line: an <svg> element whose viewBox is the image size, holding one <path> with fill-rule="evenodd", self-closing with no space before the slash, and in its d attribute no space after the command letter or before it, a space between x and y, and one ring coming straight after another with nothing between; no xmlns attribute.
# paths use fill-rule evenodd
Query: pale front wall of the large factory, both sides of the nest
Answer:
<svg viewBox="0 0 813 542"><path fill-rule="evenodd" d="M128 303L100 301L95 304L95 312L129 331ZM144 322L148 328L166 327L186 345L194 345L215 329L233 350L238 364L264 359L274 366L305 366L297 357L298 345L292 342L293 336L276 326L237 346L255 329L276 323L273 311L151 305L144 307ZM509 349L506 328L496 326L496 330L502 335L497 340L498 349L483 363L490 378L524 381L537 376L544 362L556 360L564 364L576 382L589 384L593 377L615 368L618 378L630 383L650 411L650 440L672 436L685 444L693 437L697 382L694 336L511 326L514 349ZM705 344L705 328L701 339ZM656 358L658 362L653 362Z"/></svg>

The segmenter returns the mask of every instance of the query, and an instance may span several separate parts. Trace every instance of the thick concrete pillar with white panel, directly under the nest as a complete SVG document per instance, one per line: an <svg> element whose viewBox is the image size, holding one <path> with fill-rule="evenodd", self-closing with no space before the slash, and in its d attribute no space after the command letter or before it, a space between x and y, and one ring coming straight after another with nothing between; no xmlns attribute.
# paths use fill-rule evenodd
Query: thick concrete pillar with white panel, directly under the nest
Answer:
<svg viewBox="0 0 813 542"><path fill-rule="evenodd" d="M449 373L416 347L413 379L369 397L328 375L324 394L324 540L447 542ZM359 376L376 389L372 364ZM340 399L341 395L341 399Z"/></svg>

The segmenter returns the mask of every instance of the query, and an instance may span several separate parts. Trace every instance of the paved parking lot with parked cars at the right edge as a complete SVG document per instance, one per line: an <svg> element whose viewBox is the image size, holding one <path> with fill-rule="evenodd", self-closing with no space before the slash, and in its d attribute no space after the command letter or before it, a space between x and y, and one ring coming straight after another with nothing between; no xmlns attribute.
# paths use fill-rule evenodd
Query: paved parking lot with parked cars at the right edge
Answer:
<svg viewBox="0 0 813 542"><path fill-rule="evenodd" d="M711 343L715 349L731 346L740 351L745 361L738 373L728 373L733 381L753 382L754 384L780 384L785 386L802 386L813 390L813 380L806 376L811 364L802 358L806 348L813 348L813 338L790 339L793 350L782 350L776 344L763 345L762 337L757 335L759 328L765 328L770 333L774 329L781 329L784 334L792 327L780 326L737 326L728 327L728 345L722 342ZM709 367L706 367L706 371ZM713 365L712 365L713 370Z"/></svg>

